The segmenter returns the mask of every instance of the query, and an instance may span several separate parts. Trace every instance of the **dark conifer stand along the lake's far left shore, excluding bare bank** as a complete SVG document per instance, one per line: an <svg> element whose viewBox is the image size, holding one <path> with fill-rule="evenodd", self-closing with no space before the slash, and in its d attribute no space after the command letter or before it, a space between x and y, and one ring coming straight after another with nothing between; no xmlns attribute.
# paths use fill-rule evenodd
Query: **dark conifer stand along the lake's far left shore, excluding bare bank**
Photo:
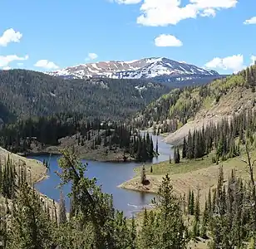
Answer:
<svg viewBox="0 0 256 249"><path fill-rule="evenodd" d="M51 117L21 120L3 125L0 130L0 146L12 153L30 152L33 147L43 148L58 145L59 139L76 135L79 146L90 149L122 149L138 161L147 161L155 156L150 134L141 135L129 125L117 122L85 120L78 114L59 114ZM124 157L126 157L124 155Z"/></svg>

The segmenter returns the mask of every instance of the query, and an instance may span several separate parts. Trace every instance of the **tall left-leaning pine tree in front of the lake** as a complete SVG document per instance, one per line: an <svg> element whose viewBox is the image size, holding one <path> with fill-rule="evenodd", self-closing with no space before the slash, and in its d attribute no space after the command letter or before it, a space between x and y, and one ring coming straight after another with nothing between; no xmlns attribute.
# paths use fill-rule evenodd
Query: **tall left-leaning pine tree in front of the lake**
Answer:
<svg viewBox="0 0 256 249"><path fill-rule="evenodd" d="M72 203L79 214L76 226L78 229L84 227L87 231L86 237L79 237L81 245L89 242L92 248L114 248L115 243L121 242L121 232L115 233L115 230L121 231L121 227L127 238L129 232L126 229L125 217L122 214L115 217L111 195L101 192L101 187L96 185L96 179L86 178L86 164L82 164L71 151L62 150L59 165L62 168L62 173L59 173L62 182L71 183ZM119 224L121 227L116 227ZM126 246L128 242L127 238Z"/></svg>

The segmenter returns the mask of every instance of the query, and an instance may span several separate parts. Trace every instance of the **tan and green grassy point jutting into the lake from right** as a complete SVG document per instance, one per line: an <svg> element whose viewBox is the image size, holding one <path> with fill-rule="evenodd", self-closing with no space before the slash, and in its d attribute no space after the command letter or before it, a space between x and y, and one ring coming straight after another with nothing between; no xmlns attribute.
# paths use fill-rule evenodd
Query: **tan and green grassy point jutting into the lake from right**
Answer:
<svg viewBox="0 0 256 249"><path fill-rule="evenodd" d="M209 159L207 159L207 163L209 163ZM248 173L244 170L246 165L242 163L240 159L229 159L220 165L223 165L224 169L224 183L227 183L232 169L235 169L235 173L238 177L241 176L244 179L248 178ZM188 167L185 167L185 163L184 165L176 165L175 167L182 167L180 168L180 173L176 173L176 169L172 167L173 165L169 164L169 162L160 163L159 165L154 164L153 174L150 174L150 166L146 166L146 178L150 181L149 185L143 186L140 183L140 176L138 175L125 183L121 183L118 187L135 191L157 193L162 178L165 176L165 173L169 173L171 185L177 195L187 195L190 189L196 192L199 188L199 195L202 200L200 203L204 205L204 198L208 196L209 188L216 187L219 166L209 163L208 167L206 167L205 165L200 164L200 161L198 160L194 161L194 164L191 163L188 165ZM195 169L197 167L204 168ZM159 171L160 168L162 168L162 173ZM156 170L158 171L157 174L154 173Z"/></svg>

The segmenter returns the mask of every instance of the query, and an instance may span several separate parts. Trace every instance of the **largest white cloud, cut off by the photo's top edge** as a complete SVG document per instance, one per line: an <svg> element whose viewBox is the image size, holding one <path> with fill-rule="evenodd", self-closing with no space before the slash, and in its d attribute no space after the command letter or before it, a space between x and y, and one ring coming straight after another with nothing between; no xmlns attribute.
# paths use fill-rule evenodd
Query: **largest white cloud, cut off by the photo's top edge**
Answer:
<svg viewBox="0 0 256 249"><path fill-rule="evenodd" d="M188 18L214 17L216 11L235 7L238 0L190 0L181 7L180 0L144 0L137 23L144 26L175 25Z"/></svg>

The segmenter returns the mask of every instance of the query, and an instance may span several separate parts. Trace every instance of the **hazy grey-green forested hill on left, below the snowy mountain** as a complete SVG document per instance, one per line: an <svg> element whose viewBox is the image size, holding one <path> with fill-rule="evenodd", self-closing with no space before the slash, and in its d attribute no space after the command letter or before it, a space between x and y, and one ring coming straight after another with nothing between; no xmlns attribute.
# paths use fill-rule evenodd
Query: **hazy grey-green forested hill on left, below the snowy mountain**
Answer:
<svg viewBox="0 0 256 249"><path fill-rule="evenodd" d="M120 120L168 91L142 80L63 80L37 71L0 71L0 123L68 111Z"/></svg>

